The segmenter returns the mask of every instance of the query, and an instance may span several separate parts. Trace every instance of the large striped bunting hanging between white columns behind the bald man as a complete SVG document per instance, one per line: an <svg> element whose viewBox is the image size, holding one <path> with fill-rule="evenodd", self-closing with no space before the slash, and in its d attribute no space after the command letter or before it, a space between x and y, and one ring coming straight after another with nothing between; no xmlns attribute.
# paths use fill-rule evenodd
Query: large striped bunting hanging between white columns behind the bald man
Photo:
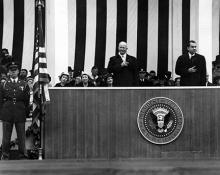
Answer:
<svg viewBox="0 0 220 175"><path fill-rule="evenodd" d="M172 71L174 56L177 59L183 53L190 38L190 25L184 22L190 16L189 10L185 9L190 7L190 0L184 1L183 6L182 3L182 0L68 0L66 67L87 73L94 65L105 68L109 58L118 52L118 43L126 41L128 54L137 58L140 69L155 70L159 75ZM182 7L177 15L182 17L184 25L178 23L182 33L176 36L181 38L173 38L174 35L170 38L169 33L173 30L170 22L175 20L170 14L176 4ZM179 52L173 55L169 48L175 41L182 43L175 48Z"/></svg>

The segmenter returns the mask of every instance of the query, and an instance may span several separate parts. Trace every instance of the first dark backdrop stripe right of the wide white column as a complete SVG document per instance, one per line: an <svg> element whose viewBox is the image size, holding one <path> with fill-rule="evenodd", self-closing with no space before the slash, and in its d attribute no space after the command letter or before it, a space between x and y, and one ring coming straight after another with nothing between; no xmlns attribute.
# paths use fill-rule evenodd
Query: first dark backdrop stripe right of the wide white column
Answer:
<svg viewBox="0 0 220 175"><path fill-rule="evenodd" d="M86 0L76 0L76 49L74 70L84 70L86 42Z"/></svg>

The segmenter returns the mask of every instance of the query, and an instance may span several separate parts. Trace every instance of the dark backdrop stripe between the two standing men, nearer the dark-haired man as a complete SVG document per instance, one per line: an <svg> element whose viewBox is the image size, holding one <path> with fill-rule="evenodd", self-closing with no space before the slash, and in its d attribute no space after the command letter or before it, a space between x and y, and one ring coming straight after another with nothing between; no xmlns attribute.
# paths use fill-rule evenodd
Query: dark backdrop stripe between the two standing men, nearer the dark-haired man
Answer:
<svg viewBox="0 0 220 175"><path fill-rule="evenodd" d="M158 76L168 69L169 0L159 0Z"/></svg>

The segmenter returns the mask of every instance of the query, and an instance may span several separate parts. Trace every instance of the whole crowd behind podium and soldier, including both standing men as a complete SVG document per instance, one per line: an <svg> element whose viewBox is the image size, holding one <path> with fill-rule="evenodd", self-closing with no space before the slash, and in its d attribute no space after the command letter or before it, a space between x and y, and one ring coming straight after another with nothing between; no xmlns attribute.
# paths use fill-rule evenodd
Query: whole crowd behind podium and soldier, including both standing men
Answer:
<svg viewBox="0 0 220 175"><path fill-rule="evenodd" d="M196 50L196 42L189 41L188 53L181 55L176 62L175 79L172 72L167 71L157 75L156 71L147 71L137 66L137 59L127 54L127 43L120 42L118 53L109 59L107 68L93 66L91 72L73 70L68 67L68 72L59 75L59 82L54 87L160 87L160 86L218 86L220 85L220 56L213 61L213 82L208 81L206 61L204 56ZM0 53L0 82L8 79L7 65L13 61L7 49ZM30 76L28 76L30 75ZM21 69L19 78L30 85L33 84L32 71ZM50 77L51 79L51 77Z"/></svg>

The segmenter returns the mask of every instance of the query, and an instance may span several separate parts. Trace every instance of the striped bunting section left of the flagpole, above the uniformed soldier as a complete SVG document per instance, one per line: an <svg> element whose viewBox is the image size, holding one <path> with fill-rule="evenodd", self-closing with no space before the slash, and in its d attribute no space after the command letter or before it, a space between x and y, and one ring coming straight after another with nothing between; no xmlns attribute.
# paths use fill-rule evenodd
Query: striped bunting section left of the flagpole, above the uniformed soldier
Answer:
<svg viewBox="0 0 220 175"><path fill-rule="evenodd" d="M7 48L15 61L32 69L35 1L0 0L0 48Z"/></svg>

